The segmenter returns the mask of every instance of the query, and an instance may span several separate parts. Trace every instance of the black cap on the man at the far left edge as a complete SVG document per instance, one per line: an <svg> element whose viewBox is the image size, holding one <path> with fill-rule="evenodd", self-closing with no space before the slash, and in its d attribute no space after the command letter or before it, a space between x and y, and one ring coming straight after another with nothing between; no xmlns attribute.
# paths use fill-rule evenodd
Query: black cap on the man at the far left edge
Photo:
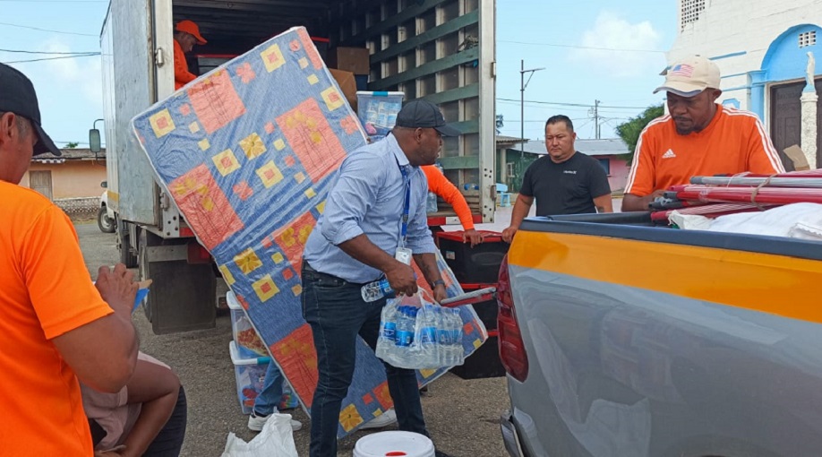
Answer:
<svg viewBox="0 0 822 457"><path fill-rule="evenodd" d="M0 64L0 113L12 112L25 117L37 132L38 142L34 145L34 155L51 152L56 156L63 153L51 141L40 125L40 109L37 93L29 78L9 65Z"/></svg>

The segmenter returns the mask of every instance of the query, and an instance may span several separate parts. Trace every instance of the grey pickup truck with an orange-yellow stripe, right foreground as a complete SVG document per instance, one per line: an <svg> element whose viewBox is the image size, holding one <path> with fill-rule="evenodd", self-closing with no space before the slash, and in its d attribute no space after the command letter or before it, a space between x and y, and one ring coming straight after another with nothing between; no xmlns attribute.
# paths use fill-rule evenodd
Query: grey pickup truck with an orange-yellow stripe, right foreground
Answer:
<svg viewBox="0 0 822 457"><path fill-rule="evenodd" d="M512 456L822 449L822 243L526 220L501 266Z"/></svg>

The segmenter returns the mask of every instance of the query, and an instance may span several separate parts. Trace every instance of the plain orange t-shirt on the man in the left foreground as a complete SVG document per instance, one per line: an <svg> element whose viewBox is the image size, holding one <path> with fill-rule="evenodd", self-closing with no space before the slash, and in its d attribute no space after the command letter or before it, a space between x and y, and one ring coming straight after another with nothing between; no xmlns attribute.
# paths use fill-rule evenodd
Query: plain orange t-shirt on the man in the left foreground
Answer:
<svg viewBox="0 0 822 457"><path fill-rule="evenodd" d="M72 222L0 181L0 455L93 454L80 385L53 338L111 314Z"/></svg>

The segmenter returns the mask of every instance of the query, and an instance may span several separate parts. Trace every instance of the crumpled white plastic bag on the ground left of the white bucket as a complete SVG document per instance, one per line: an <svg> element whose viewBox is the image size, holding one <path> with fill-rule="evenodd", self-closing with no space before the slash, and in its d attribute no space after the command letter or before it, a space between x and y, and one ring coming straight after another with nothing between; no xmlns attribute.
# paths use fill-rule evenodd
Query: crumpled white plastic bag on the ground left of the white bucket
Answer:
<svg viewBox="0 0 822 457"><path fill-rule="evenodd" d="M298 457L290 414L272 414L260 435L248 443L228 434L222 457Z"/></svg>

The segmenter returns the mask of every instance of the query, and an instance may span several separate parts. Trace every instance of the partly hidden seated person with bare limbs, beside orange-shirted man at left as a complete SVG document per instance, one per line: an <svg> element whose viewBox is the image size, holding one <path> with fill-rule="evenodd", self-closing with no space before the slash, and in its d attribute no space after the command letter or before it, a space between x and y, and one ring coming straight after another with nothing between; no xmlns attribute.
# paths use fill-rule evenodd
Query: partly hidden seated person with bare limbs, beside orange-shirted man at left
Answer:
<svg viewBox="0 0 822 457"><path fill-rule="evenodd" d="M171 368L142 352L116 393L80 384L98 457L179 455L188 417L185 392Z"/></svg>

